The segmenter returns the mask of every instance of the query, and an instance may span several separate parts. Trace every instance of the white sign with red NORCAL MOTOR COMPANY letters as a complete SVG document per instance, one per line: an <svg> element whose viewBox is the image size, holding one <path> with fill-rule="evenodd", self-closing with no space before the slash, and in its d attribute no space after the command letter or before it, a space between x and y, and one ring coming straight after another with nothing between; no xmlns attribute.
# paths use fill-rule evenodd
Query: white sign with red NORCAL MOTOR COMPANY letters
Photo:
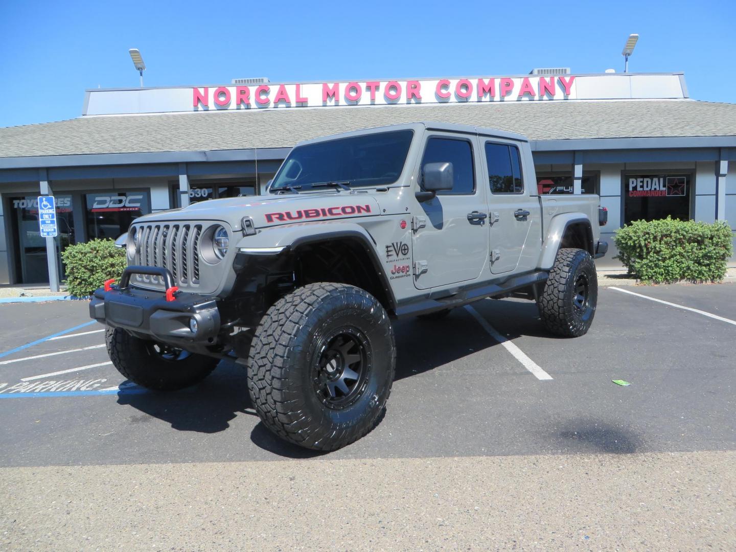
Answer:
<svg viewBox="0 0 736 552"><path fill-rule="evenodd" d="M575 77L489 77L192 88L196 110L567 99Z"/></svg>

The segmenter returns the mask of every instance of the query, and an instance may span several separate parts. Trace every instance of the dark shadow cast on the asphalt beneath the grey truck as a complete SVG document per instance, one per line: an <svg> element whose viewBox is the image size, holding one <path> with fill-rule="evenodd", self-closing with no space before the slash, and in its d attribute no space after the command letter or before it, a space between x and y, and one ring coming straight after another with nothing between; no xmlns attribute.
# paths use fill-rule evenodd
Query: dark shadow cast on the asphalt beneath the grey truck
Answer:
<svg viewBox="0 0 736 552"><path fill-rule="evenodd" d="M534 303L503 301L474 306L489 322L504 319L503 334L509 339L537 331L548 336L538 320ZM498 308L502 308L498 311ZM490 309L490 310L489 310ZM490 315L493 311L492 316ZM538 328L537 328L538 327ZM531 331L529 331L531 330ZM498 342L478 324L464 308L458 308L444 319L404 319L394 323L397 364L394 381L431 371L436 367L459 361ZM130 415L131 423L146 422L149 417L171 424L177 431L214 434L230 428L238 414L249 414L254 425L251 441L263 450L286 458L311 458L321 453L306 450L284 442L258 420L248 396L244 367L233 361L221 361L215 372L196 386L178 392L125 392L118 393L118 405L130 406L146 414Z"/></svg>

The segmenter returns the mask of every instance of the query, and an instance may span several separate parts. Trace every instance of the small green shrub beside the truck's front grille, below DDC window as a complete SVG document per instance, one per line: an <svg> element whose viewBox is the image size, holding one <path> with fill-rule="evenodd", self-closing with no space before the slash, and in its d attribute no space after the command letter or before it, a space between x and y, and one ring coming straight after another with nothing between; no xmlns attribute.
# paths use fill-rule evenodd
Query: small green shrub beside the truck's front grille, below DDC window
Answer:
<svg viewBox="0 0 736 552"><path fill-rule="evenodd" d="M61 258L66 267L67 291L77 297L91 295L105 280L119 280L126 265L125 248L115 247L111 239L70 245Z"/></svg>

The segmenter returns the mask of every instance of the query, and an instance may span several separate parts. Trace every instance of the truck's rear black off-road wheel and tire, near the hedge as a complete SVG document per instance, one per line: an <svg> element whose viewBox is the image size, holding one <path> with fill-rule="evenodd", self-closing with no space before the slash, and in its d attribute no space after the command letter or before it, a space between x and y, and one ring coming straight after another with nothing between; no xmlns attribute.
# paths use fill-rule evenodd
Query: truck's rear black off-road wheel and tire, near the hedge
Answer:
<svg viewBox="0 0 736 552"><path fill-rule="evenodd" d="M537 300L539 316L552 333L579 337L587 333L598 302L598 275L590 253L561 249Z"/></svg>

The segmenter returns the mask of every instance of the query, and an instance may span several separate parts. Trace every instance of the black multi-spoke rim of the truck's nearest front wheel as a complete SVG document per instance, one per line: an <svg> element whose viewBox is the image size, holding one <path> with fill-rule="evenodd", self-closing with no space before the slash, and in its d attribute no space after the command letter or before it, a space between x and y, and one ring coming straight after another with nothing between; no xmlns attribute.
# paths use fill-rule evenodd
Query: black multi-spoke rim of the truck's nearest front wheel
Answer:
<svg viewBox="0 0 736 552"><path fill-rule="evenodd" d="M323 405L342 410L366 389L370 344L355 328L340 328L320 340L313 363L314 391Z"/></svg>

